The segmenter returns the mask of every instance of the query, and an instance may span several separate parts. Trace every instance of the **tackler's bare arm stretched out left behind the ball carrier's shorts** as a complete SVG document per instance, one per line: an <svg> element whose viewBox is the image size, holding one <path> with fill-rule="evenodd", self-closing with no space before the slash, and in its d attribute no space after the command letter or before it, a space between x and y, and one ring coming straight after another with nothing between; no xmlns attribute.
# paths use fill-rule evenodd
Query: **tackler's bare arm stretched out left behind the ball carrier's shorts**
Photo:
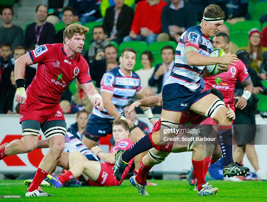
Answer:
<svg viewBox="0 0 267 202"><path fill-rule="evenodd" d="M163 101L162 97L157 97L157 96L152 96L152 97L147 97L141 100L136 100L131 104L128 114L131 113L133 109L139 106L145 106L145 107L150 107L150 106L163 106Z"/></svg>

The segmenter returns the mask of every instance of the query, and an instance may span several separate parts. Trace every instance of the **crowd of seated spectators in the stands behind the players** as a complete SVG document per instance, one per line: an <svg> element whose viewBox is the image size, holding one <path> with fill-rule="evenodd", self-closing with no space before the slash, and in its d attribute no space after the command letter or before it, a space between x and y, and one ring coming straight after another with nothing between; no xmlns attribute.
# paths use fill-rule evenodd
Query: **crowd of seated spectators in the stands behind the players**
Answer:
<svg viewBox="0 0 267 202"><path fill-rule="evenodd" d="M14 61L26 52L42 44L62 43L64 29L75 22L86 25L88 22L101 22L94 26L92 40L82 55L87 60L91 78L96 87L100 87L102 76L119 65L117 45L127 41L145 41L148 45L155 41L179 42L186 29L201 21L204 8L214 3L210 0L43 0L36 7L35 22L25 25L23 29L12 23L14 11L4 6L0 10L3 26L0 27L0 113L16 113L14 101L15 84L12 82ZM250 20L248 0L217 0L217 4L225 11L225 21L231 25L236 22ZM261 22L267 19L262 16ZM60 29L56 25L61 23ZM230 35L227 25L221 31ZM267 26L260 30L254 28L248 33L248 45L238 47L230 41L229 52L236 53L244 49L250 54L253 68L261 80L266 80L262 55L267 55ZM231 40L231 38L230 38ZM113 43L112 43L113 42ZM115 44L114 44L115 43ZM117 44L117 45L116 45ZM161 50L162 63L155 60L151 51L142 51L137 55L140 67L136 73L141 78L143 89L152 95L161 95L162 86L170 76L174 66L175 49L166 45ZM157 55L159 57L159 54ZM264 62L264 63L263 63ZM25 82L28 87L36 73L36 65L26 67ZM266 68L265 68L266 69ZM76 84L74 92L65 90L62 106L67 113L92 109L91 102L84 99L84 92ZM14 105L13 105L14 103Z"/></svg>

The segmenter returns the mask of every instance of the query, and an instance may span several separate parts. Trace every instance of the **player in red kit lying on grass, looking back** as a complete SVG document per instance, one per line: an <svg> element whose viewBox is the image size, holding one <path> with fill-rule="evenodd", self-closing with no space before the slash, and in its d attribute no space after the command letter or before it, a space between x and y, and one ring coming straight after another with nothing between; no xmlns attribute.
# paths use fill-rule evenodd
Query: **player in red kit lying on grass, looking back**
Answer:
<svg viewBox="0 0 267 202"><path fill-rule="evenodd" d="M133 145L133 142L128 139L129 125L127 121L122 119L115 119L112 125L112 134L116 142L115 146L111 149L110 153L104 153L99 146L92 147L92 151L105 163L98 161L89 161L84 155L78 151L74 151L69 155L70 169L56 177L52 175L47 176L47 180L56 188L60 188L64 182L73 178L79 177L83 174L88 184L91 186L119 186L126 177L131 168L133 159L126 167L122 178L117 181L113 176L113 166L115 163L114 154L117 150L125 150Z"/></svg>

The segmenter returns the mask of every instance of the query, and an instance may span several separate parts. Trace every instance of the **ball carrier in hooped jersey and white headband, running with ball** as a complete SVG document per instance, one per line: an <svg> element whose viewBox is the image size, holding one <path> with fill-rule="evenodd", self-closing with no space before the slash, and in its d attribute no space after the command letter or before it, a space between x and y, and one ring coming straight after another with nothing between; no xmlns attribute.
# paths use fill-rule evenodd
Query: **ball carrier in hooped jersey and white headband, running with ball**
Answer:
<svg viewBox="0 0 267 202"><path fill-rule="evenodd" d="M163 128L178 128L182 112L189 109L199 115L211 117L218 124L218 140L221 149L226 153L223 156L223 174L231 177L236 176L238 172L243 175L249 171L248 167L242 167L233 161L231 120L225 116L227 107L218 97L201 88L199 84L201 76L212 76L205 68L207 65L220 64L219 69L226 72L229 64L235 65L233 62L238 62L237 56L230 53L222 57L209 57L214 48L210 37L220 31L223 20L223 10L218 5L211 4L205 8L201 24L189 28L182 34L176 48L172 74L162 90L161 129L152 135L144 136L129 150L117 151L113 168L117 180L120 180L124 167L135 155L156 145L166 144L164 137L171 138L174 134L163 135ZM204 166L204 160L194 163L196 166Z"/></svg>

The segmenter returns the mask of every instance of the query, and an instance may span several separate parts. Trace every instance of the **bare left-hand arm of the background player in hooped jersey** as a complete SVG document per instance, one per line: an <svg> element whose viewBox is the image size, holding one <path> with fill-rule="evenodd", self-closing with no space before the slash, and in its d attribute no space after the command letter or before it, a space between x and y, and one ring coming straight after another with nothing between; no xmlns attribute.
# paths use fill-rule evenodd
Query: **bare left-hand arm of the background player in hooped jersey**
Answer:
<svg viewBox="0 0 267 202"><path fill-rule="evenodd" d="M103 102L104 102L104 107L107 110L108 114L113 116L115 119L124 119L125 121L127 121L127 123L129 124L130 128L133 127L133 123L131 120L126 119L126 117L121 116L121 114L117 111L115 105L112 103L112 97L113 97L113 93L108 93L108 92L101 92L102 93L102 97L103 97Z"/></svg>

